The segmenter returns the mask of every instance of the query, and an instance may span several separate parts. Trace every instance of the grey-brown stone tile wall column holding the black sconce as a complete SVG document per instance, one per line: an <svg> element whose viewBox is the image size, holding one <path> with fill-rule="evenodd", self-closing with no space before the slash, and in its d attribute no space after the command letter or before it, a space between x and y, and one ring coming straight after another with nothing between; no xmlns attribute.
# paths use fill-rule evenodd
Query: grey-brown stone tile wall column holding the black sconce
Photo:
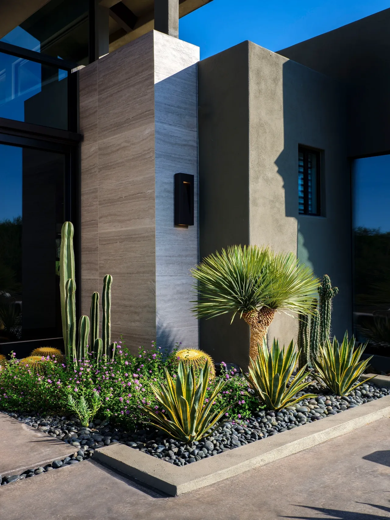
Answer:
<svg viewBox="0 0 390 520"><path fill-rule="evenodd" d="M173 225L173 176L198 175L198 60L198 47L152 31L80 71L81 311L110 273L112 340L134 351L198 344L198 219Z"/></svg>

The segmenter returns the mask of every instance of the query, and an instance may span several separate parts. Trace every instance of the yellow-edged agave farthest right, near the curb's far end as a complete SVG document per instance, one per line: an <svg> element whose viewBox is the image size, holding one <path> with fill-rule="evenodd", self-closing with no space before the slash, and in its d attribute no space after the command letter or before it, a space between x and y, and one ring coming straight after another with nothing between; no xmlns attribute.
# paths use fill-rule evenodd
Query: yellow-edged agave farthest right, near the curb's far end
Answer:
<svg viewBox="0 0 390 520"><path fill-rule="evenodd" d="M366 383L371 378L359 381L361 374L372 358L360 361L365 345L360 345L355 349L355 337L352 336L348 342L348 333L344 335L341 345L333 338L333 343L329 340L319 348L317 361L314 361L315 373L313 376L317 381L330 388L336 395L347 395L357 386Z"/></svg>

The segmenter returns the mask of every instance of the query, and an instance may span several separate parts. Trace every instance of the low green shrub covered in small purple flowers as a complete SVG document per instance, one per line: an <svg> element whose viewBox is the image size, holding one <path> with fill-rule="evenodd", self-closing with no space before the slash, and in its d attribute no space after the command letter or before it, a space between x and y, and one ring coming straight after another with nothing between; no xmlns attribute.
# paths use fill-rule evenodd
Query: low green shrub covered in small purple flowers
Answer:
<svg viewBox="0 0 390 520"><path fill-rule="evenodd" d="M69 397L79 401L81 395L91 402L95 393L102 405L97 413L101 419L109 419L133 430L147 418L142 405L159 411L150 383L164 379L166 367L176 376L177 367L171 356L165 356L153 342L150 350L140 347L137 355L118 343L114 359L96 361L92 356L76 365L65 366L54 357L43 358L44 369L36 371L27 364L15 360L0 367L0 409L69 414ZM217 408L230 406L226 419L250 417L258 402L249 392L245 379L236 369L225 371L210 380L206 400L213 394L220 379L226 380L223 391L215 399ZM42 372L42 373L41 373Z"/></svg>

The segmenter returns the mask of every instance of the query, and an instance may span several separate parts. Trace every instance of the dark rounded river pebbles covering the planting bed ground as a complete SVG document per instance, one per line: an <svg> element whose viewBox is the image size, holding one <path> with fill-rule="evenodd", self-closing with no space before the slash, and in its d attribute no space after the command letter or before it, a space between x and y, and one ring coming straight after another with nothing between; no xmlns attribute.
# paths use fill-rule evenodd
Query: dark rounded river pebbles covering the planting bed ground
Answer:
<svg viewBox="0 0 390 520"><path fill-rule="evenodd" d="M347 397L340 397L324 394L316 382L310 381L306 393L316 394L316 398L304 399L278 412L259 410L253 417L241 422L222 421L214 432L209 431L208 437L189 444L169 438L149 426L135 433L127 433L123 428L110 426L107 420L97 419L89 427L83 427L74 417L41 417L34 413L3 411L28 426L68 443L75 451L70 457L35 470L24 471L21 475L4 475L2 485L91 458L95 449L118 443L173 465L184 466L390 395L390 388L368 382L360 385ZM303 394L302 392L301 395Z"/></svg>

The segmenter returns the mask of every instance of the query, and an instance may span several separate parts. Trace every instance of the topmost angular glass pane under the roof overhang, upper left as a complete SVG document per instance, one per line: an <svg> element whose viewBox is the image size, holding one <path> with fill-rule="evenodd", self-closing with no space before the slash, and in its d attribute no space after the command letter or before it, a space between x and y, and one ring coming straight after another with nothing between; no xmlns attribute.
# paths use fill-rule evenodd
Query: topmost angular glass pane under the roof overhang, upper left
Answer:
<svg viewBox="0 0 390 520"><path fill-rule="evenodd" d="M51 0L1 41L88 64L88 0Z"/></svg>

